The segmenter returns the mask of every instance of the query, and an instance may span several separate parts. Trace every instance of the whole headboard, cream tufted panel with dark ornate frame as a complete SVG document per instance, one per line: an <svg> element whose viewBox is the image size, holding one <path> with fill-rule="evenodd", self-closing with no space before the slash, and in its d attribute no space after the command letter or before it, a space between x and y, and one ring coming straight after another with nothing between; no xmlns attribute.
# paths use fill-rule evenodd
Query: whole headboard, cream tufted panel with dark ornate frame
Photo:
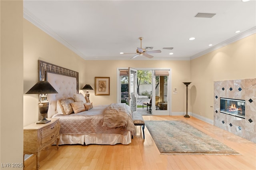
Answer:
<svg viewBox="0 0 256 170"><path fill-rule="evenodd" d="M73 97L74 93L78 93L78 72L38 60L38 73L40 81L47 80L58 92L48 94L48 118L51 118L57 113L58 100Z"/></svg>

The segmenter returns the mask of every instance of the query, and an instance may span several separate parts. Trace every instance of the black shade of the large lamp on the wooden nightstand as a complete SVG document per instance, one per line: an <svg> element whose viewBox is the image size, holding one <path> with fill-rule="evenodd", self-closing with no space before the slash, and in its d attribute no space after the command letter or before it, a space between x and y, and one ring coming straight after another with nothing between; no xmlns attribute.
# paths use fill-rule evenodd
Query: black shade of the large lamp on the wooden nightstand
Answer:
<svg viewBox="0 0 256 170"><path fill-rule="evenodd" d="M48 81L38 81L26 94L58 93Z"/></svg>

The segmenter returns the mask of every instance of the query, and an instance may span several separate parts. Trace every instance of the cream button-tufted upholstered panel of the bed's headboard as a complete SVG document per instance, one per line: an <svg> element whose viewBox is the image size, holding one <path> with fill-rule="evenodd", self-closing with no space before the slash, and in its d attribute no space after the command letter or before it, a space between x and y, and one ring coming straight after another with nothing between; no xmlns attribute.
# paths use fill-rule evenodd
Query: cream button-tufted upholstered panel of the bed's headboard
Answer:
<svg viewBox="0 0 256 170"><path fill-rule="evenodd" d="M57 113L56 103L60 99L73 98L76 91L76 77L47 73L47 81L58 92L57 94L48 94L49 109L48 117L52 117Z"/></svg>

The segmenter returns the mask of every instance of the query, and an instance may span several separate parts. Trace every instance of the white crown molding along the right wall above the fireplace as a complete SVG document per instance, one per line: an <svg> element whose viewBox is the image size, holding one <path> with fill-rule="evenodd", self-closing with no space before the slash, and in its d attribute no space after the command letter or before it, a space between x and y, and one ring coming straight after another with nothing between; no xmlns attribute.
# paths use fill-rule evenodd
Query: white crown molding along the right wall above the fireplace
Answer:
<svg viewBox="0 0 256 170"><path fill-rule="evenodd" d="M238 40L241 40L243 38L246 38L248 36L251 36L252 34L255 34L255 33L256 33L256 26L252 27L249 30L246 30L245 32L242 32L241 34L238 34L238 35L236 35L236 36L234 36L234 37L232 37L232 38L230 38L228 40L225 40L224 42L218 43L217 45L214 45L214 46L212 46L212 47L210 47L210 48L208 48L208 49L206 49L204 51L201 51L201 52L199 52L199 53L197 53L195 55L192 55L190 57L190 60L191 59L195 59L197 57L200 57L200 56L202 56L204 54L210 53L210 52L212 52L212 51L214 51L216 49L219 49L219 48L224 47L224 46L226 46L228 44L234 43L234 42L236 42Z"/></svg>

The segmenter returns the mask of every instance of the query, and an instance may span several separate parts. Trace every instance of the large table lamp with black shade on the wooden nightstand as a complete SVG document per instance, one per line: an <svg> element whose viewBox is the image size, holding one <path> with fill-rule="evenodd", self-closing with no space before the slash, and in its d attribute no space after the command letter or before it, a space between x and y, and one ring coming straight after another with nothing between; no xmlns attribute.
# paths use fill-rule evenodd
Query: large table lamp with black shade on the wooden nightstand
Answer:
<svg viewBox="0 0 256 170"><path fill-rule="evenodd" d="M41 121L38 121L36 124L46 124L50 120L46 119L49 102L47 99L47 94L58 93L48 81L38 81L26 94L39 94L39 104L38 109L42 116Z"/></svg>

